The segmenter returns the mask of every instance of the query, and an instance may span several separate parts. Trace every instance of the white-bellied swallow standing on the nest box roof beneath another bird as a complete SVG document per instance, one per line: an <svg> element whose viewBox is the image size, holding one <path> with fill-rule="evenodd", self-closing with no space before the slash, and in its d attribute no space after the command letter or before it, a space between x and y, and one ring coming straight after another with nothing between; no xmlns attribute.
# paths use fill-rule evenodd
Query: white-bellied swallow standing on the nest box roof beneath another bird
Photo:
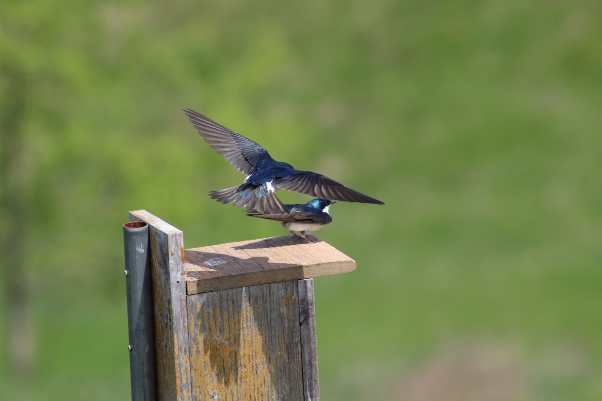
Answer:
<svg viewBox="0 0 602 401"><path fill-rule="evenodd" d="M305 236L307 231L320 230L332 221L328 209L333 203L336 202L318 198L312 199L306 204L287 204L285 207L288 210L284 213L258 213L247 216L279 221L282 227L288 228L288 232L294 237L300 237L309 242L308 237ZM300 231L301 235L297 236L294 231Z"/></svg>

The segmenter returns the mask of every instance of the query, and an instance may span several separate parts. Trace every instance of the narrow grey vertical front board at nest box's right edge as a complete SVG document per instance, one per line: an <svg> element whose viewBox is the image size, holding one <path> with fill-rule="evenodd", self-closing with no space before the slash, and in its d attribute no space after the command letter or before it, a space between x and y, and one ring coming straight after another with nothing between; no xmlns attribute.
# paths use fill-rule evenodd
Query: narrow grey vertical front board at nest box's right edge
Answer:
<svg viewBox="0 0 602 401"><path fill-rule="evenodd" d="M320 401L318 382L318 345L315 335L314 279L297 281L299 286L299 323L303 358L303 396L305 401Z"/></svg>

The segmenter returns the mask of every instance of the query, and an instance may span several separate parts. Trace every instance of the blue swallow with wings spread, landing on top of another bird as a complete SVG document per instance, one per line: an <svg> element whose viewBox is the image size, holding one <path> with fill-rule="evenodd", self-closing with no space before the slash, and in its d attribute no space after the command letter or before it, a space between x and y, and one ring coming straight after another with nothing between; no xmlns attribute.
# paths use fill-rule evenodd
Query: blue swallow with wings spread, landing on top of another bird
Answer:
<svg viewBox="0 0 602 401"><path fill-rule="evenodd" d="M288 163L277 162L257 142L196 111L182 110L209 146L247 175L240 186L209 192L219 202L233 202L246 207L247 212L285 213L288 210L274 195L276 188L280 188L323 199L384 204L321 174L295 170Z"/></svg>

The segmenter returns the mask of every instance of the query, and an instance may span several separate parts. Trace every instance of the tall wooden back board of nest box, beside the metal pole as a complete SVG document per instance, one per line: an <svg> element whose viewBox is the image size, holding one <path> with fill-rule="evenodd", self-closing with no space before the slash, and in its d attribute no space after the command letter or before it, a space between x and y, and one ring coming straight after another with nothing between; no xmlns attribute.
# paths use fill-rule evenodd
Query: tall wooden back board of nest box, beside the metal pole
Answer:
<svg viewBox="0 0 602 401"><path fill-rule="evenodd" d="M158 400L189 400L190 358L182 231L146 210L130 221L149 224Z"/></svg>

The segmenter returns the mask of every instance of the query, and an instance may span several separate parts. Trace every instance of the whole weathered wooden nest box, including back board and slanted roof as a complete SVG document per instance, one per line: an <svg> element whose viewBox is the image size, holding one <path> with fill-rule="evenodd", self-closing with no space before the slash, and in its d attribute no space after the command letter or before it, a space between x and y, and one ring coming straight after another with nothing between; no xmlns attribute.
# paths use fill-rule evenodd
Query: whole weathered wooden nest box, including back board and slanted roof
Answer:
<svg viewBox="0 0 602 401"><path fill-rule="evenodd" d="M319 400L312 277L355 262L290 236L184 249L149 224L160 400Z"/></svg>

